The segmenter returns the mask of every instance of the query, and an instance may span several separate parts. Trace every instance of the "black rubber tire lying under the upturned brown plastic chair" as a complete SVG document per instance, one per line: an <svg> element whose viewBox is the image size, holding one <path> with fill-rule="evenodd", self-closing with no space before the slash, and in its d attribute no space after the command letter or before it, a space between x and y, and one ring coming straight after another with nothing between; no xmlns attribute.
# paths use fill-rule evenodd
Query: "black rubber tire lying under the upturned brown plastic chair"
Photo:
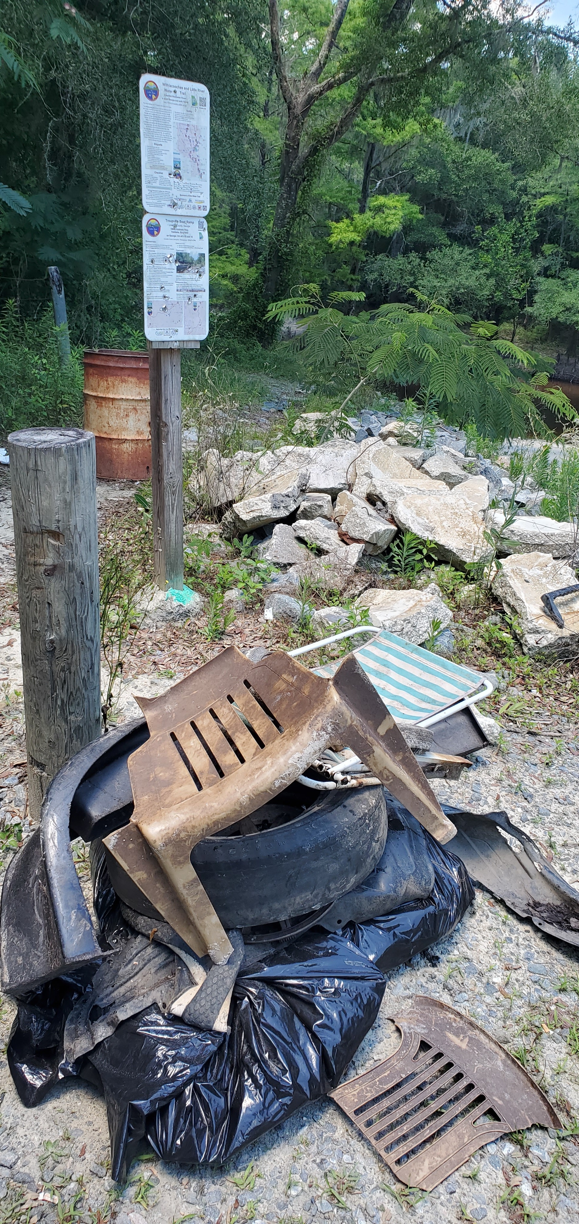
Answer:
<svg viewBox="0 0 579 1224"><path fill-rule="evenodd" d="M289 789L294 798L296 789L304 793L305 788L294 783ZM266 812L267 805L252 819L257 823ZM207 837L195 847L191 860L225 929L257 927L308 913L356 887L382 857L387 832L381 786L331 791L278 827ZM158 917L110 854L106 862L121 900Z"/></svg>

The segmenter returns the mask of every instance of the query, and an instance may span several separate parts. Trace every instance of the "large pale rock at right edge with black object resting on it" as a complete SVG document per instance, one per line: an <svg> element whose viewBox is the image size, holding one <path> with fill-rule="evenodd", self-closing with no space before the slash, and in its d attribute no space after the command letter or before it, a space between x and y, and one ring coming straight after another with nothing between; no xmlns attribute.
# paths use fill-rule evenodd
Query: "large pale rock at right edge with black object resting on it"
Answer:
<svg viewBox="0 0 579 1224"><path fill-rule="evenodd" d="M546 552L513 554L503 561L492 589L507 611L515 613L515 633L526 655L579 656L579 592L557 600L563 629L547 616L541 602L541 595L547 591L575 584L574 570Z"/></svg>

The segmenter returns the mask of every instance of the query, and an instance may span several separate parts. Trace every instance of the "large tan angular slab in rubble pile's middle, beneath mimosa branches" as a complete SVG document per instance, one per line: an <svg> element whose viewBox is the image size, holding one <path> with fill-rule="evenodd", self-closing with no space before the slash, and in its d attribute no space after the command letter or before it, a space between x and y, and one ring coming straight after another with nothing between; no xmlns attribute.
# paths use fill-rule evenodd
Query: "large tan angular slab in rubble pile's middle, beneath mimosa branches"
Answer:
<svg viewBox="0 0 579 1224"><path fill-rule="evenodd" d="M431 540L437 557L458 569L490 553L481 515L458 491L444 488L442 497L410 493L395 503L394 518L404 531Z"/></svg>

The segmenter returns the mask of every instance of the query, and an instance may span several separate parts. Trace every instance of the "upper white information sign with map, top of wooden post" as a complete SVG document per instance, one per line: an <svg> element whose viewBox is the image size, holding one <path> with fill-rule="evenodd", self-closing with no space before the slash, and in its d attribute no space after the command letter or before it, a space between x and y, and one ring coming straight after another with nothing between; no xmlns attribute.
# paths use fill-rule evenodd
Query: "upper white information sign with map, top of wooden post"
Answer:
<svg viewBox="0 0 579 1224"><path fill-rule="evenodd" d="M209 212L209 91L146 73L140 81L143 208L181 217Z"/></svg>

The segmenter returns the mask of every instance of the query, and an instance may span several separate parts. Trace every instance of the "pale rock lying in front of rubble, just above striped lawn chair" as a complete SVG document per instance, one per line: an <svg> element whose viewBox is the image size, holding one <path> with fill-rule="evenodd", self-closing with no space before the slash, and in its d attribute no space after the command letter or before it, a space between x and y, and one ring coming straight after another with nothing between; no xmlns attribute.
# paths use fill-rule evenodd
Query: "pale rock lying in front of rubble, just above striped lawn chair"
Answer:
<svg viewBox="0 0 579 1224"><path fill-rule="evenodd" d="M356 600L359 607L368 608L371 624L397 633L406 641L420 646L428 638L432 622L439 621L439 630L453 618L444 603L441 590L431 583L424 590L384 591L371 589Z"/></svg>

